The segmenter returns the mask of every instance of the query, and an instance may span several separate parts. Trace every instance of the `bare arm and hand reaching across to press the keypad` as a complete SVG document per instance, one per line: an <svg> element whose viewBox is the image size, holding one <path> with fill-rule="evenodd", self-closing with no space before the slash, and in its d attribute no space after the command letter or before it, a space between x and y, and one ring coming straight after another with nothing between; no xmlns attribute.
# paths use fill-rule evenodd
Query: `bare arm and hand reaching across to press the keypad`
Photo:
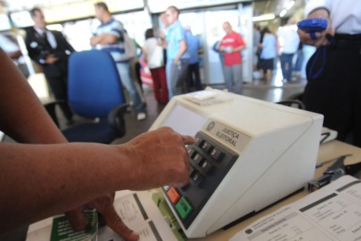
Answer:
<svg viewBox="0 0 361 241"><path fill-rule="evenodd" d="M167 145L170 141L173 147ZM2 143L0 231L75 209L116 190L186 184L189 163L183 145L192 142L163 128L124 145Z"/></svg>

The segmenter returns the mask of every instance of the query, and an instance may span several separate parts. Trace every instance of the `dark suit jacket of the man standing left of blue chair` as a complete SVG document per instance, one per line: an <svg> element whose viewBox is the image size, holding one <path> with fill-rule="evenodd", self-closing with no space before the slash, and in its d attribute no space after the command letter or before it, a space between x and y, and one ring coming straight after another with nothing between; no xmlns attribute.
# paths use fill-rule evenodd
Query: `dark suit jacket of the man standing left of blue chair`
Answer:
<svg viewBox="0 0 361 241"><path fill-rule="evenodd" d="M49 30L48 30L49 31ZM28 49L30 59L43 66L43 72L47 77L58 77L67 75L67 60L69 55L74 52L74 48L70 45L63 34L58 31L51 31L56 41L56 49L43 39L34 28L26 31L25 44ZM43 60L50 54L58 57L58 61L52 65L43 63Z"/></svg>

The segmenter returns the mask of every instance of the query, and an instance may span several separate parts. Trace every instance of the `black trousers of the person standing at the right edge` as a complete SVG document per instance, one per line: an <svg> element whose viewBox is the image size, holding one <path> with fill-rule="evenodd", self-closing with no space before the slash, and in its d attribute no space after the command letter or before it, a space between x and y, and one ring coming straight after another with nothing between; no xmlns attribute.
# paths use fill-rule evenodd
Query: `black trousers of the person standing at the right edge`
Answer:
<svg viewBox="0 0 361 241"><path fill-rule="evenodd" d="M325 51L307 64L303 101L307 110L325 116L324 126L335 129L338 140L352 134L351 143L361 147L361 36L336 35Z"/></svg>

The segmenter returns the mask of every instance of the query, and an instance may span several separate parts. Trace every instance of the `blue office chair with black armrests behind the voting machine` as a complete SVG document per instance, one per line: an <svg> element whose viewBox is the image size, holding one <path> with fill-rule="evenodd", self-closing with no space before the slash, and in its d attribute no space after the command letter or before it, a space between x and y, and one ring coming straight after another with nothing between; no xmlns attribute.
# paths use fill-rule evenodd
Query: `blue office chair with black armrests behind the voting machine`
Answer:
<svg viewBox="0 0 361 241"><path fill-rule="evenodd" d="M111 55L99 50L74 52L69 58L68 72L68 104L79 116L100 121L64 129L67 140L109 144L124 136L127 105ZM54 107L45 108L56 121Z"/></svg>

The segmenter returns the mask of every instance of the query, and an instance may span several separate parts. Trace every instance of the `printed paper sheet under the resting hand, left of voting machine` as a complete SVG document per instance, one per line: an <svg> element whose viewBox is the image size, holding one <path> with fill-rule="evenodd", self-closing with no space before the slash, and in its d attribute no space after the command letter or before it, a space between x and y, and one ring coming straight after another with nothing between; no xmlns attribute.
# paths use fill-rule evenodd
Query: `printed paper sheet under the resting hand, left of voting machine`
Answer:
<svg viewBox="0 0 361 241"><path fill-rule="evenodd" d="M116 193L114 207L116 207L116 211L122 218L124 224L127 224L130 229L140 234L141 241L176 241L177 238L175 238L171 228L166 224L162 214L151 199L151 194L152 192L150 191L119 191ZM56 231L59 231L59 229L61 229L60 231L63 230L63 226L59 227L59 225L57 225L59 221L57 218L59 217L54 218L55 222L53 218L48 218L30 225L26 240L50 240L52 233L54 233L54 230L52 232L52 224L56 224ZM79 232L70 232L69 229L67 229L66 234L74 237L78 235ZM109 229L109 227L101 227L98 229L97 238L98 241L123 240L119 235ZM91 239L86 238L86 240Z"/></svg>

